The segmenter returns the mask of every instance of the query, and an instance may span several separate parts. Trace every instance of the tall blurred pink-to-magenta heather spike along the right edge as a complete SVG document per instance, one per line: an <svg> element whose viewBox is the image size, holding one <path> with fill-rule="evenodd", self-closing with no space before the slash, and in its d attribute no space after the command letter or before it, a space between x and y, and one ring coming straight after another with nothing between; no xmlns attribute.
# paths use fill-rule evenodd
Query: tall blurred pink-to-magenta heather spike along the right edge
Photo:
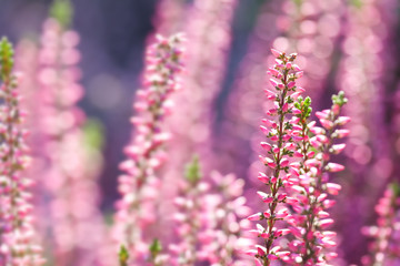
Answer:
<svg viewBox="0 0 400 266"><path fill-rule="evenodd" d="M351 102L343 108L343 114L351 116L352 122L347 127L351 133L343 154L349 190L342 200L351 204L342 205L340 209L346 215L338 216L337 222L347 236L341 245L347 258L360 257L367 250L367 238L359 233L373 212L364 206L374 205L387 180L399 172L392 139L400 129L392 109L397 105L393 94L397 57L392 57L397 7L396 0L351 1L343 13L346 34L337 90L344 91ZM354 223L357 219L360 222Z"/></svg>

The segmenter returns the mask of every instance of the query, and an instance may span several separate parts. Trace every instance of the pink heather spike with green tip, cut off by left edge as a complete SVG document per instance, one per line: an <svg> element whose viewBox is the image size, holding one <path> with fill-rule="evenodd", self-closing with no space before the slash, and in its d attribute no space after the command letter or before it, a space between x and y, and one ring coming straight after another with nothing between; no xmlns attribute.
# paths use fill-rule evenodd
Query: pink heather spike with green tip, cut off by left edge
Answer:
<svg viewBox="0 0 400 266"><path fill-rule="evenodd" d="M33 181L21 175L29 164L21 127L23 114L13 69L13 49L7 39L0 42L0 265L43 265L42 249L34 243Z"/></svg>

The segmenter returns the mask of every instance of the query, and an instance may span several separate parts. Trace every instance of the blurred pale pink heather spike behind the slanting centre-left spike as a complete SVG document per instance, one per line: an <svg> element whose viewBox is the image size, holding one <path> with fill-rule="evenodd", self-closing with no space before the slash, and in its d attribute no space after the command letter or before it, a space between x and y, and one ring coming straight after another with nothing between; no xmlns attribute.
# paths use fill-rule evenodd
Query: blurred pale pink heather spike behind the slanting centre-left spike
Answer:
<svg viewBox="0 0 400 266"><path fill-rule="evenodd" d="M167 168L171 186L193 151L199 154L206 173L219 163L214 160L211 142L216 117L213 103L223 83L236 6L237 0L196 0L187 11L189 19L184 32L190 49L184 60L187 74L182 86L188 90L173 95L180 112L168 122L173 135L170 152L174 160Z"/></svg>

